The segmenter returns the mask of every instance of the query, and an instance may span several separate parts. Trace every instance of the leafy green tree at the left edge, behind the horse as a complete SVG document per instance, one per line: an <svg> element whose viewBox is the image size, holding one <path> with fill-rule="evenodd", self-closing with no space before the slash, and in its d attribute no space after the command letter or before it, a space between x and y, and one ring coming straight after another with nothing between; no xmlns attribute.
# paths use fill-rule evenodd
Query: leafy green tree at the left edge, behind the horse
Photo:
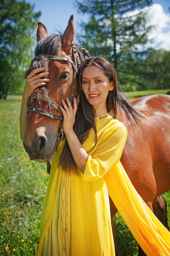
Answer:
<svg viewBox="0 0 170 256"><path fill-rule="evenodd" d="M33 56L33 35L41 12L17 0L0 0L0 98L22 93L23 78Z"/></svg>

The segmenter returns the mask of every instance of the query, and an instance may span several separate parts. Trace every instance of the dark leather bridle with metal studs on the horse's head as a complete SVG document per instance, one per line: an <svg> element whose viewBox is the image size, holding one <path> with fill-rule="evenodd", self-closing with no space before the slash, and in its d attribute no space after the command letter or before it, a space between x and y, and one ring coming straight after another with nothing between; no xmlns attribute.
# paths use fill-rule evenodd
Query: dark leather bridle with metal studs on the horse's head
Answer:
<svg viewBox="0 0 170 256"><path fill-rule="evenodd" d="M83 50L85 50L85 49L82 48L82 51ZM75 89L75 79L76 79L76 74L77 74L77 71L78 71L78 66L80 64L79 55L77 54L77 50L76 50L75 45L73 45L73 47L72 47L72 54L73 54L73 61L70 58L67 58L67 57L57 56L57 55L49 55L49 54L40 54L38 56L35 56L33 58L33 60L31 61L31 63L33 63L34 61L38 61L38 60L41 60L43 58L47 58L50 61L51 60L67 61L67 62L69 62L73 65L73 82L72 82L72 85L71 85L71 92L70 92L70 96L69 96L70 102L72 102L72 100L73 100L73 94L74 94L74 89ZM58 144L64 137L64 132L63 132L63 129L62 129L63 115L62 115L62 112L60 110L59 105L55 101L53 101L50 97L48 97L48 99L46 99L46 97L42 96L40 99L42 101L46 102L47 104L49 104L49 111L41 109L41 108L34 108L34 107L31 107L30 104L35 99L37 99L37 97L36 97L36 95L33 94L27 100L27 106L28 106L27 112L35 112L35 113L38 113L38 114L45 115L46 117L50 117L54 120L60 120L59 134L58 134L57 139L56 139L56 142ZM76 97L76 101L77 101L77 104L78 104L79 103L79 94ZM55 110L57 110L57 112L60 115L53 115L51 113L51 106L53 108L55 108Z"/></svg>

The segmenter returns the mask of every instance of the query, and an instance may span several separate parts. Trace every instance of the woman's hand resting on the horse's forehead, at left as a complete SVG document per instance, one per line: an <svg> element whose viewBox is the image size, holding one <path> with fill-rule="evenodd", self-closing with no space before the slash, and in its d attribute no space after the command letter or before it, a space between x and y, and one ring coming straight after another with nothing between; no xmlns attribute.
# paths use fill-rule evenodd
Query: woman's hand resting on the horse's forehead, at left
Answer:
<svg viewBox="0 0 170 256"><path fill-rule="evenodd" d="M28 99L37 87L45 85L47 82L50 81L49 79L42 78L43 76L47 76L49 72L37 74L39 72L42 72L43 70L44 67L40 67L36 70L31 71L31 73L26 76L25 88L23 92L25 98Z"/></svg>

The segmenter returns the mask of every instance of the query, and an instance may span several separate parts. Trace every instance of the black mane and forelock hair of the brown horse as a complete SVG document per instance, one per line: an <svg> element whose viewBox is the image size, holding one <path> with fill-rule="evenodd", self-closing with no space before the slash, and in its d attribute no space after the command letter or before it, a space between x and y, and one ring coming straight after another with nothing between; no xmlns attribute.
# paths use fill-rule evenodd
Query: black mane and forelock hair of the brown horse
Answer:
<svg viewBox="0 0 170 256"><path fill-rule="evenodd" d="M62 34L51 34L38 42L37 46L35 47L35 56L38 56L40 54L57 55L61 51L61 49ZM75 46L75 49L79 56L80 62L86 58L90 58L90 55L88 54L88 51L86 49L77 46ZM38 61L34 61L30 66L30 69L26 72L25 76L27 76L32 70L39 67L44 67L44 72L48 72L49 59L43 58ZM46 86L41 86L41 88L37 88L35 90L35 94L37 96L38 94L49 95L49 92ZM130 102L128 101L128 99L126 99L122 92L118 93L117 103L119 107L126 112L126 115L130 121L131 119L134 119L136 122L139 121L139 117L141 115L130 104Z"/></svg>

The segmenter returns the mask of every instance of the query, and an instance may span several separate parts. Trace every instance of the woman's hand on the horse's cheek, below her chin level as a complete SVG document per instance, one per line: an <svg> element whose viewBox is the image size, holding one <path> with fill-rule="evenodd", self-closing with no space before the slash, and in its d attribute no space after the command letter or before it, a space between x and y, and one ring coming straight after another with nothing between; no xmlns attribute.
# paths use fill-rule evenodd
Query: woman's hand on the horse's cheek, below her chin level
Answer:
<svg viewBox="0 0 170 256"><path fill-rule="evenodd" d="M68 97L66 97L66 103L64 102L64 100L62 100L63 108L60 106L60 109L63 114L63 131L65 135L73 131L73 125L75 123L75 114L77 112L76 99L74 99L73 101L73 107Z"/></svg>

